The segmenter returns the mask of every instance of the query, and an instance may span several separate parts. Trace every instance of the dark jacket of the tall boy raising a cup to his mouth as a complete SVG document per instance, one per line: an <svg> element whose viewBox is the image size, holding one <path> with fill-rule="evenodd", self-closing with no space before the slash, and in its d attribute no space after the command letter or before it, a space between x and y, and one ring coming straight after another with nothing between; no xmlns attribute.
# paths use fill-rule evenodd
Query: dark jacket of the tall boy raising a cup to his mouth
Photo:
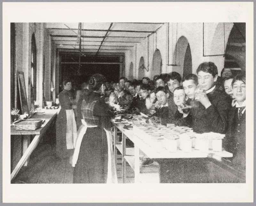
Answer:
<svg viewBox="0 0 256 206"><path fill-rule="evenodd" d="M215 88L207 94L212 105L205 107L196 101L191 101L192 125L195 132L217 132L225 134L228 124L228 111L231 107L231 99Z"/></svg>

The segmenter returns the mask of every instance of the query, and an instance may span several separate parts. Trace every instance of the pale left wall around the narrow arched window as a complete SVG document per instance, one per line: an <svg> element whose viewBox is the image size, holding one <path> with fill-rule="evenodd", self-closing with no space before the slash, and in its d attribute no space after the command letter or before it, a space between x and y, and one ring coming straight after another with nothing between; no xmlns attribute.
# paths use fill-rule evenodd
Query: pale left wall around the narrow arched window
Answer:
<svg viewBox="0 0 256 206"><path fill-rule="evenodd" d="M45 72L49 74L51 79L51 39L48 33L44 34L44 23L15 23L16 34L16 70L23 71L26 84L26 93L28 99L28 109L30 111L30 76L31 76L31 39L35 33L36 39L36 100L39 106L43 106L43 57L46 50ZM44 39L45 42L44 42ZM30 81L29 81L30 80ZM51 80L50 80L51 81ZM47 84L48 85L48 84ZM48 85L49 87L49 85Z"/></svg>

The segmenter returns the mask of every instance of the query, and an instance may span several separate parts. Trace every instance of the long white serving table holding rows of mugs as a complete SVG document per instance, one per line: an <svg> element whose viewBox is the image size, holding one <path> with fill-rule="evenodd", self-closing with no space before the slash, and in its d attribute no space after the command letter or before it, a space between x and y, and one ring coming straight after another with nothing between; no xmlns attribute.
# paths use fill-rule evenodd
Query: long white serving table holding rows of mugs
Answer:
<svg viewBox="0 0 256 206"><path fill-rule="evenodd" d="M114 119L112 123L114 126L115 157L117 157L117 150L122 154L123 183L125 183L126 180L126 162L128 162L134 170L135 183L171 183L184 181L184 178L181 180L181 176L186 176L186 174L184 174L184 168L186 168L186 166L189 167L191 164L194 164L195 168L198 165L204 166L205 161L208 161L208 159L214 159L215 162L220 163L222 162L222 158L233 156L227 151L216 152L209 150L208 152L202 152L194 148L192 148L191 152L181 150L170 152L164 147L159 147L159 145L156 145L152 140L150 142L146 136L134 134L132 129L124 129L123 123L116 122ZM117 141L117 130L122 132L121 143ZM126 137L134 143L134 148L126 147ZM141 165L140 157L143 156L143 154L153 159L153 164L149 166ZM190 178L197 178L198 180L196 181L202 180L201 177L191 176Z"/></svg>

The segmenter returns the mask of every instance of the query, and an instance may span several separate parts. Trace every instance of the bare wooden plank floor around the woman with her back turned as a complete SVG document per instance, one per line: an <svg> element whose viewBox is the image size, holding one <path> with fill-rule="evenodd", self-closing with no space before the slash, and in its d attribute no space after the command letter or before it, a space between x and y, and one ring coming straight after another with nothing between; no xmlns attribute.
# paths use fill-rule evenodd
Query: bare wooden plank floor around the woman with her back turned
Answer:
<svg viewBox="0 0 256 206"><path fill-rule="evenodd" d="M117 157L117 178L122 183L122 158ZM134 183L134 172L127 163L126 182ZM52 184L52 183L73 183L73 167L69 159L61 160L55 155L55 147L50 144L39 143L32 152L28 166L23 166L12 183L28 184Z"/></svg>

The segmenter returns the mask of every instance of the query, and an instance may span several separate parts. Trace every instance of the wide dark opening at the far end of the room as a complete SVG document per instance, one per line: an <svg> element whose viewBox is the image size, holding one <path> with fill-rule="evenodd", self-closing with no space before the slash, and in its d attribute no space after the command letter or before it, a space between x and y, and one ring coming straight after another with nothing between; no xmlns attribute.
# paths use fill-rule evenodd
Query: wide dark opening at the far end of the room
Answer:
<svg viewBox="0 0 256 206"><path fill-rule="evenodd" d="M102 53L95 56L94 53L83 52L79 58L77 52L60 51L59 81L71 78L74 89L79 89L83 82L96 73L104 75L108 82L118 82L121 69L125 69L124 53Z"/></svg>

